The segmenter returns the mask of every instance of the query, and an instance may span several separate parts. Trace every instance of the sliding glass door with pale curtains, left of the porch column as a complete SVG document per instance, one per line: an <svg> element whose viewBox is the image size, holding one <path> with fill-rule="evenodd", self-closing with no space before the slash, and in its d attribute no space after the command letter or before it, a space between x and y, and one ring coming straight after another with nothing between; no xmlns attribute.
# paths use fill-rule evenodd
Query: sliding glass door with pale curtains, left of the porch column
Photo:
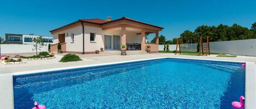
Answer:
<svg viewBox="0 0 256 109"><path fill-rule="evenodd" d="M121 39L119 35L104 35L105 50L120 50Z"/></svg>

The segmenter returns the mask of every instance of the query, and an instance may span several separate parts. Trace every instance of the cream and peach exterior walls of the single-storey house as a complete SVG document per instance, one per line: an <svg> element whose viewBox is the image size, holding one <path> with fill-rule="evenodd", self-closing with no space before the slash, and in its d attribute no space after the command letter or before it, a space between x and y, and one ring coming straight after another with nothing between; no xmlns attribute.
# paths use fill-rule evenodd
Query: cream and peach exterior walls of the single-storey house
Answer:
<svg viewBox="0 0 256 109"><path fill-rule="evenodd" d="M125 22L133 24L134 22ZM136 23L137 24L137 23ZM138 24L139 26L144 26L144 24ZM85 30L85 39L84 39L84 48L85 53L94 53L95 50L100 50L100 48L104 48L104 35L120 35L121 43L141 43L141 50L145 50L145 38L147 34L145 32L148 31L148 29L144 28L137 28L135 26L130 26L127 24L122 25L125 26L125 37L122 37L122 26L115 27L115 28L103 28L108 27L108 25L103 25L100 27L99 25L92 25L91 23L84 23L84 30ZM129 28L129 29L128 29ZM156 29L154 27L151 27L150 29ZM142 37L141 32L144 31L144 36ZM156 30L150 30L151 32L156 32ZM74 34L74 42L72 40L71 34ZM95 41L90 41L90 33L95 33ZM81 23L75 23L74 25L69 25L69 27L62 28L59 30L56 30L52 32L53 34L53 44L59 43L58 41L58 35L59 34L65 34L65 42L66 42L66 51L67 52L73 52L73 53L82 53L83 52L83 35L82 35L82 25ZM158 35L158 34L157 34ZM122 40L124 38L124 40ZM144 41L142 41L144 40ZM121 45L120 45L121 46ZM155 47L158 45L152 45L152 50L158 47ZM158 50L158 49L157 49ZM157 51L154 50L154 51Z"/></svg>

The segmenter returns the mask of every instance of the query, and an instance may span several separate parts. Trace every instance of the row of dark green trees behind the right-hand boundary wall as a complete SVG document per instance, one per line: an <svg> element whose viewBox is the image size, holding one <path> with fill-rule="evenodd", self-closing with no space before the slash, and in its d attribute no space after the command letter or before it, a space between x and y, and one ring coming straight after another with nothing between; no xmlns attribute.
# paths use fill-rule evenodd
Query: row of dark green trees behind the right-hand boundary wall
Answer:
<svg viewBox="0 0 256 109"><path fill-rule="evenodd" d="M252 24L251 29L242 27L236 23L232 26L219 24L217 27L214 25L201 25L194 31L185 30L183 33L181 33L180 38L195 36L202 36L203 40L206 40L206 37L209 36L210 42L256 39L256 22ZM166 40L165 36L159 36L159 44L176 44L176 41L177 38ZM154 42L156 42L155 38L151 41L151 43ZM192 42L196 43L194 40Z"/></svg>

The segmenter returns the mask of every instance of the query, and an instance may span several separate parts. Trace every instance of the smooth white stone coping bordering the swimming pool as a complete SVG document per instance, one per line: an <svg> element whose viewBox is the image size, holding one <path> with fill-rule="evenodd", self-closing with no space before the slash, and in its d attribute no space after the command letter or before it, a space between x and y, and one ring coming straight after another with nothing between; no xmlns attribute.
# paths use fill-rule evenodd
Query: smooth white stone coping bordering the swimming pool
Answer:
<svg viewBox="0 0 256 109"><path fill-rule="evenodd" d="M14 95L13 95L13 75L22 75L22 74L32 74L32 73L41 73L48 72L52 70L63 70L63 69L72 69L72 68L81 68L81 67L93 67L93 66L102 66L102 65L113 65L118 63L126 62L136 62L136 61L146 61L153 59L193 59L193 58L183 58L183 57L157 57L151 59L141 59L141 60L132 60L132 61L120 61L120 62L109 62L109 63L98 63L93 65L84 65L84 66L74 66L74 67L62 67L62 68L51 68L51 69L41 69L41 70L31 70L25 72L16 72L8 74L0 74L0 108L13 109L14 108ZM209 60L209 59L193 59L193 60ZM246 85L245 85L245 98L246 104L245 107L248 109L256 108L256 65L254 62L248 61L226 61L226 60L209 60L209 61L223 61L223 62L246 62ZM239 101L239 98L237 98ZM32 104L33 105L33 102ZM231 105L231 102L230 102Z"/></svg>

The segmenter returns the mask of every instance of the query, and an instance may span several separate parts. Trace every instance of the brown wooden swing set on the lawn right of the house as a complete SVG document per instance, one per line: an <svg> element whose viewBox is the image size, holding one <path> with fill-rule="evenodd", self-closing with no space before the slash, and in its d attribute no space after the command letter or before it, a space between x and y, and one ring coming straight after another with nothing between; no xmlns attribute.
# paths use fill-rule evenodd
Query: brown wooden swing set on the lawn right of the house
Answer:
<svg viewBox="0 0 256 109"><path fill-rule="evenodd" d="M180 51L180 54L181 54L181 46L180 46L180 44L182 44L182 50L183 50L184 44L188 45L188 40L189 39L190 39L190 44L191 44L191 51L193 50L193 40L195 41L195 43L198 43L197 40L199 39L199 43L198 43L199 44L199 52L198 52L198 55L206 55L206 56L207 56L207 54L210 55L209 36L207 36L206 42L203 42L202 36L200 36L200 37L195 36L195 37L182 37L182 38L178 38L177 39L177 43L176 43L175 55L177 54L177 48L180 49L179 51ZM183 43L184 40L185 40L186 43ZM205 45L204 45L204 43L205 43ZM186 47L186 48L188 48L188 47ZM197 48L197 46L195 46L195 48ZM204 49L206 49L205 52L204 52Z"/></svg>

